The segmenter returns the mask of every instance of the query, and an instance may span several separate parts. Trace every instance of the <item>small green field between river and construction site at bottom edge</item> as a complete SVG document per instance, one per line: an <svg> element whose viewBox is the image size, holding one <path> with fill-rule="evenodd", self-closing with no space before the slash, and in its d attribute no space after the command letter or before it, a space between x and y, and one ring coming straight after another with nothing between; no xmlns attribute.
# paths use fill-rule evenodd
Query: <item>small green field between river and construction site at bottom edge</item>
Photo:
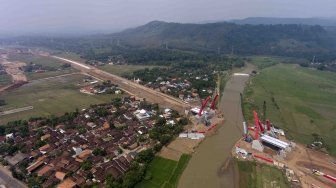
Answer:
<svg viewBox="0 0 336 188"><path fill-rule="evenodd" d="M289 188L290 183L279 169L249 161L237 161L239 187L244 188Z"/></svg>

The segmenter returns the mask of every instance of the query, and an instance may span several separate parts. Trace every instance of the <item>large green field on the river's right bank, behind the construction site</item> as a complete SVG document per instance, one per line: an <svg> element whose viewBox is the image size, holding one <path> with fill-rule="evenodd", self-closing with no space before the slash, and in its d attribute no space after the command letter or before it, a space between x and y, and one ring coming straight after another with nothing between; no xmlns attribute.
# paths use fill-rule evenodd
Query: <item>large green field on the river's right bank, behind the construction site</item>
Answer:
<svg viewBox="0 0 336 188"><path fill-rule="evenodd" d="M325 141L336 155L336 74L278 64L265 68L244 91L243 110L252 124L252 110L283 128L289 139L309 144L312 133Z"/></svg>

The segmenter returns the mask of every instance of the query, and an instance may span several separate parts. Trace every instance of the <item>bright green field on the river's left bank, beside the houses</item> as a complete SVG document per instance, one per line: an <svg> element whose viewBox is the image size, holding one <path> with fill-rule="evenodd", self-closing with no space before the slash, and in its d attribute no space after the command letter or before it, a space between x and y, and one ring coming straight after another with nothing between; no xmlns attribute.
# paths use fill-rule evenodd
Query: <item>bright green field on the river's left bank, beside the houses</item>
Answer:
<svg viewBox="0 0 336 188"><path fill-rule="evenodd" d="M174 188L177 187L180 176L187 166L191 155L183 154L179 161L156 156L149 164L145 179L137 188Z"/></svg>

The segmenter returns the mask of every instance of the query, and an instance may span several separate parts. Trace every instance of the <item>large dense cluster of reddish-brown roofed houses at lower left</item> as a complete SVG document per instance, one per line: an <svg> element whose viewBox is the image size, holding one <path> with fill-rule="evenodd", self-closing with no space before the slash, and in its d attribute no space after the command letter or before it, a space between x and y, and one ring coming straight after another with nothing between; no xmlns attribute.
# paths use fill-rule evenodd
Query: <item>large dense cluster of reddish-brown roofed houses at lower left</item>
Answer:
<svg viewBox="0 0 336 188"><path fill-rule="evenodd" d="M2 157L17 171L26 163L24 180L42 178L42 187L104 186L107 176L120 178L137 153L155 144L148 136L155 115L167 124L175 122L170 109L145 110L132 97L77 111L54 126L46 125L46 119L31 120L28 135L13 131L1 137L1 144L24 146Z"/></svg>

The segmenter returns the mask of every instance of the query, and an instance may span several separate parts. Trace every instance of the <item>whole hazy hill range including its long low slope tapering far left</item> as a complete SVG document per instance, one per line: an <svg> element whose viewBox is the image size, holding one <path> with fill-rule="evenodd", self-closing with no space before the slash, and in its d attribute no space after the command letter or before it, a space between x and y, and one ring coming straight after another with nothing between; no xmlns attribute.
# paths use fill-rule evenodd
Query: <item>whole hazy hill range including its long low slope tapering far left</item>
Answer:
<svg viewBox="0 0 336 188"><path fill-rule="evenodd" d="M336 37L317 25L180 24L153 21L125 31L78 38L34 38L20 44L70 50L93 59L134 51L192 51L336 59ZM142 53L142 52L141 52ZM141 54L139 53L139 54Z"/></svg>

